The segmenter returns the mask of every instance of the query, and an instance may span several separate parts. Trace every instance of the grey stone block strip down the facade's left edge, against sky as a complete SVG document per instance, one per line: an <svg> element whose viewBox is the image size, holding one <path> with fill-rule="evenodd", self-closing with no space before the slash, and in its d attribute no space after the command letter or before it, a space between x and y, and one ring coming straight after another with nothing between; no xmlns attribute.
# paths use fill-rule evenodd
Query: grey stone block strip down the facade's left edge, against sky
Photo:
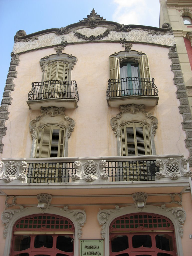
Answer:
<svg viewBox="0 0 192 256"><path fill-rule="evenodd" d="M5 120L8 120L9 112L8 106L11 105L12 98L10 97L11 92L14 91L15 84L13 83L14 78L17 77L16 67L19 65L19 55L11 53L11 62L9 72L7 75L6 85L3 93L3 99L1 101L0 108L0 153L3 153L2 138L6 134L7 127L5 127Z"/></svg>

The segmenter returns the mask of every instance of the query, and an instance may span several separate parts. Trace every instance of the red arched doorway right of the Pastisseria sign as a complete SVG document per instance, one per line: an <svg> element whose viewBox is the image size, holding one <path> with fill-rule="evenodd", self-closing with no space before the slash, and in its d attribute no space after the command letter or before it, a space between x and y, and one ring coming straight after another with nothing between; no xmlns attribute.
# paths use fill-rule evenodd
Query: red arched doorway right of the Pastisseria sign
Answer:
<svg viewBox="0 0 192 256"><path fill-rule="evenodd" d="M135 213L110 224L110 256L176 256L173 223L166 217Z"/></svg>

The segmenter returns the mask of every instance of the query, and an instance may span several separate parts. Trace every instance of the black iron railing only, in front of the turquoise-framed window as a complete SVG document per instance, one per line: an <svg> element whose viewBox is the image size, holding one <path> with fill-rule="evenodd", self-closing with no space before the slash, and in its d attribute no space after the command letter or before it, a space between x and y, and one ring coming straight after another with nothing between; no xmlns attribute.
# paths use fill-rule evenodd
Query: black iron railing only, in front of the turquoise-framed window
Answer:
<svg viewBox="0 0 192 256"><path fill-rule="evenodd" d="M107 99L129 95L158 96L158 89L154 78L125 77L109 79Z"/></svg>

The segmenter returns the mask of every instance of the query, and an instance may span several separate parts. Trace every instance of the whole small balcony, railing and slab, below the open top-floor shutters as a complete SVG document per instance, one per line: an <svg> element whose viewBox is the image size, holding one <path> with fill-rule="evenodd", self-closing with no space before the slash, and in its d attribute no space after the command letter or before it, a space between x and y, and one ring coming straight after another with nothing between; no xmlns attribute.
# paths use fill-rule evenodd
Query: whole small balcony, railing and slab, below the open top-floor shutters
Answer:
<svg viewBox="0 0 192 256"><path fill-rule="evenodd" d="M110 107L126 104L155 106L158 103L158 89L154 78L125 77L110 79L107 102Z"/></svg>

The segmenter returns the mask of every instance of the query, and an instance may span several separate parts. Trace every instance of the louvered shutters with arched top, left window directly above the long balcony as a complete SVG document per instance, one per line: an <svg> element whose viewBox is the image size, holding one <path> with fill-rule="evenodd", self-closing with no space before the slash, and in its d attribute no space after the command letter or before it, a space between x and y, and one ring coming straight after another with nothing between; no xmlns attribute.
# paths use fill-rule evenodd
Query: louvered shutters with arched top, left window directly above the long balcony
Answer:
<svg viewBox="0 0 192 256"><path fill-rule="evenodd" d="M58 125L46 125L39 128L35 157L63 157L65 128Z"/></svg>

